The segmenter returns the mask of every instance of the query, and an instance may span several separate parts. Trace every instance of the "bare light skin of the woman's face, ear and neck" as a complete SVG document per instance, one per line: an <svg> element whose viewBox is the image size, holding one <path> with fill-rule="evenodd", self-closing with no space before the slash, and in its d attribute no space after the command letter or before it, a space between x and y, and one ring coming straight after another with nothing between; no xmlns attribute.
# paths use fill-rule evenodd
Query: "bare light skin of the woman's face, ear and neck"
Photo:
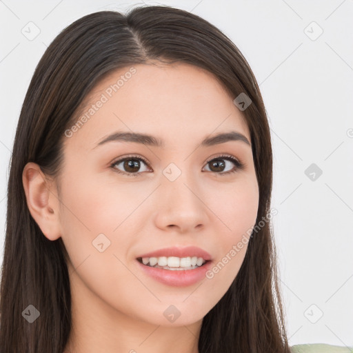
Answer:
<svg viewBox="0 0 353 353"><path fill-rule="evenodd" d="M61 236L69 254L73 330L65 353L198 352L203 317L234 281L247 244L212 279L187 287L146 276L136 258L160 248L196 245L216 264L256 221L259 190L251 146L242 141L199 146L205 137L229 131L251 141L235 97L210 72L193 65L134 68L136 74L65 138L60 193L58 181L46 178L37 164L23 170L34 220L51 241ZM101 81L85 106L97 102L128 69ZM117 130L152 134L163 139L165 148L117 141L94 148ZM223 153L245 168L217 176L222 170L208 161ZM148 161L135 169L139 177L115 172L129 172L123 163L110 167L129 154ZM223 173L236 168L223 161ZM163 175L170 163L181 170L175 181ZM103 252L92 245L101 233L110 240ZM171 304L181 312L173 323L163 315Z"/></svg>

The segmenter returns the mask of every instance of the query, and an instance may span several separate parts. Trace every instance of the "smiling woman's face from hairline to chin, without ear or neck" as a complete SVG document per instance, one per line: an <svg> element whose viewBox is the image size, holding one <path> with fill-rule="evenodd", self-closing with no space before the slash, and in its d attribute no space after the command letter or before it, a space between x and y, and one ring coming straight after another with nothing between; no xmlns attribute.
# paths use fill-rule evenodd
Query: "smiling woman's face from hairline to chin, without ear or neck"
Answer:
<svg viewBox="0 0 353 353"><path fill-rule="evenodd" d="M87 97L83 125L66 132L59 214L72 291L82 303L94 299L109 315L154 325L187 325L228 290L247 249L236 245L259 205L244 141L250 132L232 99L212 74L184 63L117 70ZM148 134L163 145L127 135L102 143L115 132ZM244 139L202 143L230 132ZM138 260L188 246L210 254L207 268L183 275ZM175 323L166 319L178 312Z"/></svg>

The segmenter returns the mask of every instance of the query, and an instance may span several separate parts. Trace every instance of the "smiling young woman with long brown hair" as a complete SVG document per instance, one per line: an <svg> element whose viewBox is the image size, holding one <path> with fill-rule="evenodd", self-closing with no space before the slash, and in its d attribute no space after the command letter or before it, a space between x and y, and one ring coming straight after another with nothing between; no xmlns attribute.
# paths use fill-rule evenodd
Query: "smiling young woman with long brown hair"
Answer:
<svg viewBox="0 0 353 353"><path fill-rule="evenodd" d="M290 352L271 188L261 93L222 32L163 6L75 21L19 118L1 352Z"/></svg>

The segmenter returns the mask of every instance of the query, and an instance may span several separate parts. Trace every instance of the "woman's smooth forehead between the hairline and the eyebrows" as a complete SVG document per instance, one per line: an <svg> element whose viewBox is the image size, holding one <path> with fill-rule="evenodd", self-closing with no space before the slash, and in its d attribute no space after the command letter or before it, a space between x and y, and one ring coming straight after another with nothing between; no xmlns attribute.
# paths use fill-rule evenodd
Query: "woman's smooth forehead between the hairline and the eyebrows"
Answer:
<svg viewBox="0 0 353 353"><path fill-rule="evenodd" d="M93 148L104 135L125 130L177 145L180 139L236 130L250 141L232 99L212 73L194 65L126 66L106 75L85 97L76 114L80 127L69 140Z"/></svg>

